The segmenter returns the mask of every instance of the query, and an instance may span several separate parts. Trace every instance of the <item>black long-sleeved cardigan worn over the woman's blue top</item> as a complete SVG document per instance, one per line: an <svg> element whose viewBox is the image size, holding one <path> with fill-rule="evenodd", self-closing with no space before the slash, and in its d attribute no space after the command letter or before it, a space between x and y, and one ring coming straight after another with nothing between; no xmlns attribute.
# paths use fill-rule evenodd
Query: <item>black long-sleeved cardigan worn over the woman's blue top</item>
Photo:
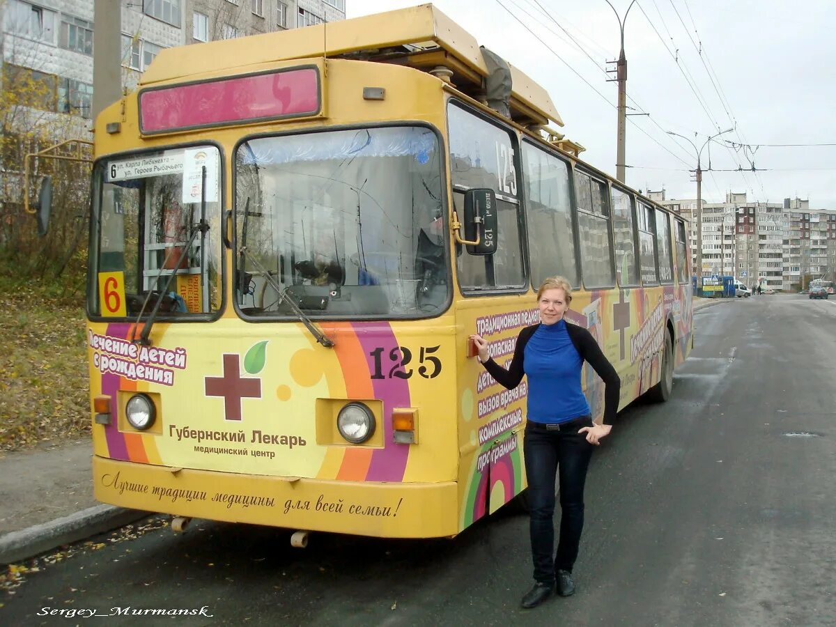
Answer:
<svg viewBox="0 0 836 627"><path fill-rule="evenodd" d="M523 351L525 350L525 345L528 344L528 339L531 339L538 326L540 325L533 324L520 331L520 334L517 336L517 347L514 349L511 367L508 370L502 368L493 358L489 358L482 363L485 366L485 370L491 373L492 377L497 380L497 383L503 385L508 390L513 390L523 380L523 375L525 375ZM604 380L604 425L612 425L615 420L615 413L619 410L619 395L621 392L619 375L613 368L613 364L609 363L609 359L601 351L598 342L595 341L587 329L567 321L566 332L569 334L569 339L572 340L572 344L575 350L578 351L581 359L589 362L589 365Z"/></svg>

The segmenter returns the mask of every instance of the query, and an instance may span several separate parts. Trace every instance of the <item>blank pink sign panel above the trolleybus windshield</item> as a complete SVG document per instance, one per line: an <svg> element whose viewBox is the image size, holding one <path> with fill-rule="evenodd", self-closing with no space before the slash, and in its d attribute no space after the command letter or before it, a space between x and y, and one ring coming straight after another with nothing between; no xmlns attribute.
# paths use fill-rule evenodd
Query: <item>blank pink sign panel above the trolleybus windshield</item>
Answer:
<svg viewBox="0 0 836 627"><path fill-rule="evenodd" d="M318 115L319 69L314 66L144 89L144 135Z"/></svg>

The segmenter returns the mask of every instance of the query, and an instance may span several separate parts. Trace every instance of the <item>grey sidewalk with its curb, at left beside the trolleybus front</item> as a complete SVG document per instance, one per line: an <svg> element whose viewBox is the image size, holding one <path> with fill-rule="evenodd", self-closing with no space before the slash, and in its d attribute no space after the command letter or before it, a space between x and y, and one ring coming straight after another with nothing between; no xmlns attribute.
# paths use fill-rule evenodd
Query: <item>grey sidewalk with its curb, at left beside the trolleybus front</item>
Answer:
<svg viewBox="0 0 836 627"><path fill-rule="evenodd" d="M147 515L93 497L89 440L0 453L0 564L31 558Z"/></svg>

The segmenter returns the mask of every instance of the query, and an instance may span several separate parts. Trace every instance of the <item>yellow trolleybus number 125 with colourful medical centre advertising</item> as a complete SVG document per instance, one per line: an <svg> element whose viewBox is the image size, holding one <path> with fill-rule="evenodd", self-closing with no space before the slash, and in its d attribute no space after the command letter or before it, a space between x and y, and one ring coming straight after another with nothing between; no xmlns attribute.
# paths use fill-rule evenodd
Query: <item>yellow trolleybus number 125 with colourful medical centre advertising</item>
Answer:
<svg viewBox="0 0 836 627"><path fill-rule="evenodd" d="M620 405L665 400L692 343L686 224L562 124L431 5L163 50L95 123L99 501L298 543L454 536L525 489L526 386L467 337L510 359L555 274Z"/></svg>

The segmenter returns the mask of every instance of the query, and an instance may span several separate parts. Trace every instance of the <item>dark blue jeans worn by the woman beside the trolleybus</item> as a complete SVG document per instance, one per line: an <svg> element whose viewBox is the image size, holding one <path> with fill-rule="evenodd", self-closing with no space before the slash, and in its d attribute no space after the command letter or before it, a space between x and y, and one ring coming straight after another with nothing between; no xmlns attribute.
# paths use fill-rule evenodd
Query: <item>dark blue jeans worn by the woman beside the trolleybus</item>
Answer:
<svg viewBox="0 0 836 627"><path fill-rule="evenodd" d="M558 570L572 572L584 529L584 483L593 445L578 430L592 426L589 416L561 425L560 431L529 422L523 451L531 508L531 553L534 579L553 585ZM554 477L560 479L560 538L554 556Z"/></svg>

